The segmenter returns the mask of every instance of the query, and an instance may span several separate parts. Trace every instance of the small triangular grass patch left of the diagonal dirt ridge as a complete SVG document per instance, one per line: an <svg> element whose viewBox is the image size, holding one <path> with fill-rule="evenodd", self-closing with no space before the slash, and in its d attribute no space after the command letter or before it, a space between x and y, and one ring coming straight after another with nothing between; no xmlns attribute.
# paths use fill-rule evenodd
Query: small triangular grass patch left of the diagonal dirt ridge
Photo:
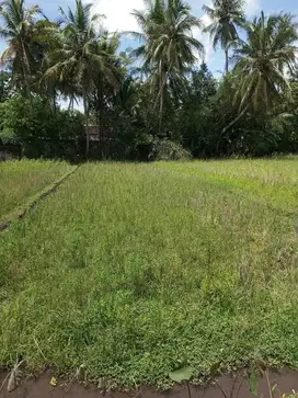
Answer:
<svg viewBox="0 0 298 398"><path fill-rule="evenodd" d="M58 161L0 162L0 220L72 168Z"/></svg>

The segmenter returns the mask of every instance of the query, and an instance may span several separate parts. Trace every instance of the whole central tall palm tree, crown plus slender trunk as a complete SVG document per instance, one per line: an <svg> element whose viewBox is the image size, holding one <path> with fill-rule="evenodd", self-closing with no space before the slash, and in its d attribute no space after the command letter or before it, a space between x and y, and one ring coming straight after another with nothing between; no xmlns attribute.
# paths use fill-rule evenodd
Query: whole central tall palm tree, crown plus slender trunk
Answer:
<svg viewBox="0 0 298 398"><path fill-rule="evenodd" d="M135 50L149 70L159 104L159 132L162 127L164 99L169 89L182 87L185 72L204 55L204 46L193 36L202 22L191 14L183 0L145 0L145 11L134 11L144 45Z"/></svg>

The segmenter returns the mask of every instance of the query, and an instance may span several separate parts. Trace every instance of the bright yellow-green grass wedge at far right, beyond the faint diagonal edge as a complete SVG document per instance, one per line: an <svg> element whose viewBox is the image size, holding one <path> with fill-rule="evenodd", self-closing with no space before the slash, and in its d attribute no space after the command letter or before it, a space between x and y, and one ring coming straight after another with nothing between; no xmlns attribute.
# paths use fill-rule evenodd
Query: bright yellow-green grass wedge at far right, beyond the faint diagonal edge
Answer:
<svg viewBox="0 0 298 398"><path fill-rule="evenodd" d="M198 175L215 185L238 191L252 201L297 213L298 157L288 159L160 162L159 167Z"/></svg>

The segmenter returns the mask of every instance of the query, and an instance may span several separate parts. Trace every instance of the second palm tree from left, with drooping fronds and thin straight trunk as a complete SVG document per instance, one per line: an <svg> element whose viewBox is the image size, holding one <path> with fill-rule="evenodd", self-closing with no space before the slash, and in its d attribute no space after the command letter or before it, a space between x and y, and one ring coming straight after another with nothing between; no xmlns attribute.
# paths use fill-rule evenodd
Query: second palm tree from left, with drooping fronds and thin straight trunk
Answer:
<svg viewBox="0 0 298 398"><path fill-rule="evenodd" d="M102 49L101 33L96 29L100 15L91 18L90 4L83 4L82 0L76 0L74 12L68 8L68 12L60 9L65 18L62 30L62 45L50 55L53 66L45 73L45 79L54 78L60 87L66 87L69 93L71 84L72 95L83 100L85 117L85 155L89 153L89 99L95 87L94 81L99 73L117 86L110 55Z"/></svg>

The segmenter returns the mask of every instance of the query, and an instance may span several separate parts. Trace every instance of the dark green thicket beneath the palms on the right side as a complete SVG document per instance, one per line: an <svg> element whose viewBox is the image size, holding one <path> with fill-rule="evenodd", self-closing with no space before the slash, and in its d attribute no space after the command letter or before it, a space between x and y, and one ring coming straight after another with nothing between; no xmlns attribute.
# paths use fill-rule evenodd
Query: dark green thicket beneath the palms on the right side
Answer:
<svg viewBox="0 0 298 398"><path fill-rule="evenodd" d="M239 114L233 103L233 77L218 84L203 66L188 84L187 95L173 115L172 130L180 132L181 143L194 157L262 157L298 151L296 83L291 83L293 98L285 98L283 106L276 104L265 114L250 110L228 129L225 127Z"/></svg>

